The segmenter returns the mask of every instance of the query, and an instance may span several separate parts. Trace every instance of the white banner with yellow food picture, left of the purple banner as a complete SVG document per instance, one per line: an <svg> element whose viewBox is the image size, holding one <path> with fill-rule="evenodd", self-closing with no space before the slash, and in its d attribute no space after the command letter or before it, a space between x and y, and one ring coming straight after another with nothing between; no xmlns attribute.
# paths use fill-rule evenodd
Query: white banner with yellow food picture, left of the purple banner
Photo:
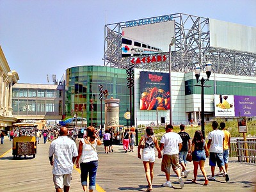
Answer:
<svg viewBox="0 0 256 192"><path fill-rule="evenodd" d="M234 95L214 95L215 116L234 116Z"/></svg>

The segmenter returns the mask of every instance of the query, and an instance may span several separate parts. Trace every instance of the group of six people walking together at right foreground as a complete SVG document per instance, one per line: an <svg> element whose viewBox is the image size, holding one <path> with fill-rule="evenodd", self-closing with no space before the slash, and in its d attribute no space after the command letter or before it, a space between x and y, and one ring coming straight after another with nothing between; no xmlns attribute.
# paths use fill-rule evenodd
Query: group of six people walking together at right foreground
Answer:
<svg viewBox="0 0 256 192"><path fill-rule="evenodd" d="M204 175L204 186L209 184L209 180L215 180L215 167L216 164L219 168L219 172L216 175L223 175L225 181L228 182L229 177L227 174L228 168L228 155L230 148L230 132L225 130L225 123L221 122L218 129L218 122L212 122L212 131L209 132L209 141L206 143L204 136L200 130L195 131L195 135L191 139L189 134L185 131L185 125L180 125L180 132L173 132L172 125L166 125L166 133L160 140L160 146L157 144L157 140L154 137L154 132L151 127L146 128L145 136L141 137L140 144L138 146L138 158L143 161L145 169L145 175L148 182L147 191L152 191L152 180L154 177L153 166L155 162L154 147L158 152L158 157L162 158L161 171L165 173L166 182L163 186L172 187L170 181L171 167L173 172L177 175L180 188L184 187L182 177L188 177L189 170L186 168L186 156L188 152L192 153L193 160L193 176L192 183L196 183L196 177L198 174L198 166ZM141 143L145 144L142 145ZM142 149L142 156L141 156ZM162 155L163 150L163 155ZM205 172L205 160L209 157L209 166L211 166L211 175L207 177Z"/></svg>

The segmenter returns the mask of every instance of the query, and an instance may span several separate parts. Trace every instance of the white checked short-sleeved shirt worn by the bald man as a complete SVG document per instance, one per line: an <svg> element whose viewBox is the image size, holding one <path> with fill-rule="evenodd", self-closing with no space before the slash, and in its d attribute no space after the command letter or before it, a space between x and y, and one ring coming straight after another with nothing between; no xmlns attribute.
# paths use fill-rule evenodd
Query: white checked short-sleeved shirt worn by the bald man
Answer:
<svg viewBox="0 0 256 192"><path fill-rule="evenodd" d="M64 175L72 173L73 157L78 156L76 143L67 136L59 136L52 141L49 148L49 157L54 155L52 166L53 175Z"/></svg>

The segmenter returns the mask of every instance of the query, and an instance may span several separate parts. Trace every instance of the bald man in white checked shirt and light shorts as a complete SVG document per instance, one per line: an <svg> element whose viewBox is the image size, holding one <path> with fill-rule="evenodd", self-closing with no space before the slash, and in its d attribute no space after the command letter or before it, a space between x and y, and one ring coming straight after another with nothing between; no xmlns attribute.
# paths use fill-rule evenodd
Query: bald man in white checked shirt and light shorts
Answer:
<svg viewBox="0 0 256 192"><path fill-rule="evenodd" d="M73 164L78 156L76 143L68 138L68 129L61 127L60 136L49 147L49 160L52 165L53 182L56 192L68 192L72 179Z"/></svg>

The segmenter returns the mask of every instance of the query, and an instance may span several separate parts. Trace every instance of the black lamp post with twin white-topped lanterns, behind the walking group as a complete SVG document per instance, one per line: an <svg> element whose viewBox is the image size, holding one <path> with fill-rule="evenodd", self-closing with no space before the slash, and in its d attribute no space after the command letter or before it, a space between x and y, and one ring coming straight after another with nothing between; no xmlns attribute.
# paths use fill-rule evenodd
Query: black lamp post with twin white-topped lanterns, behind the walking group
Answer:
<svg viewBox="0 0 256 192"><path fill-rule="evenodd" d="M200 84L195 84L195 86L200 86L201 87L201 110L202 110L202 113L201 113L201 131L202 131L202 134L203 134L204 138L205 138L205 129L204 129L205 128L204 127L204 88L205 87L211 87L211 86L204 85L204 83L206 81L209 81L209 78L211 76L212 63L210 63L210 61L208 61L205 64L205 69L206 69L207 79L204 79L204 77L202 77L201 80L199 80L200 71L201 71L200 66L197 66L196 69L195 69L196 83L198 83L200 81Z"/></svg>

